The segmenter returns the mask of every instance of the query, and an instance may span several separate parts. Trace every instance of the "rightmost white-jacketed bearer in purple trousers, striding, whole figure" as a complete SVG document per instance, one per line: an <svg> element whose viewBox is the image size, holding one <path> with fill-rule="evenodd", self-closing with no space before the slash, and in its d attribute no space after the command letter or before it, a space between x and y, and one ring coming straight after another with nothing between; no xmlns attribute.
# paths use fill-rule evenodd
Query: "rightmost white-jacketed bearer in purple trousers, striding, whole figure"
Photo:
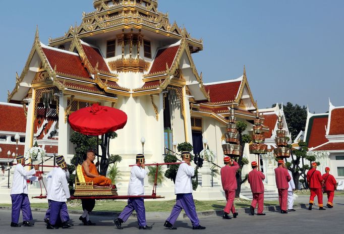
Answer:
<svg viewBox="0 0 344 234"><path fill-rule="evenodd" d="M195 202L192 196L191 178L195 175L195 169L193 166L191 166L190 161L190 152L182 152L183 163L179 165L175 183L175 194L177 195L176 204L173 207L171 214L163 224L165 227L171 230L177 229L173 226L173 224L176 222L182 209L184 209L186 215L190 218L192 223L192 229L205 229L204 226L201 226L199 224Z"/></svg>

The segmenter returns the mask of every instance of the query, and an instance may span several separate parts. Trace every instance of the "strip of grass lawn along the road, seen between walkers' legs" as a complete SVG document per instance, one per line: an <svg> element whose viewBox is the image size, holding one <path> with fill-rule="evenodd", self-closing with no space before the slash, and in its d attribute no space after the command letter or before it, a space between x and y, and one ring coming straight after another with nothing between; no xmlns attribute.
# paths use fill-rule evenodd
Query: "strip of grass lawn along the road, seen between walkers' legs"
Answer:
<svg viewBox="0 0 344 234"><path fill-rule="evenodd" d="M175 205L175 200L170 201L145 201L145 207L147 212L162 211L169 212ZM73 200L67 203L68 209L70 210L82 210L81 201ZM97 200L94 211L112 211L121 212L127 205L127 201L116 201L116 200ZM209 210L223 210L225 201L198 201L195 200L197 211L209 211ZM251 205L250 200L235 199L235 206L237 208L249 208ZM265 201L265 206L278 205L278 201ZM11 204L0 204L0 206L10 207ZM47 209L47 203L31 203L31 208L42 208Z"/></svg>

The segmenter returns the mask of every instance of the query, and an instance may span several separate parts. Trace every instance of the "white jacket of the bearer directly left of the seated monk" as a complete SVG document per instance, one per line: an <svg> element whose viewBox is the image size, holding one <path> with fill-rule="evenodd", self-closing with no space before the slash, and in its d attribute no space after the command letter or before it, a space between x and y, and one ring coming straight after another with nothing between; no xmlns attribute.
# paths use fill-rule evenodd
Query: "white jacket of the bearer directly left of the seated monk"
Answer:
<svg viewBox="0 0 344 234"><path fill-rule="evenodd" d="M56 202L66 202L71 197L66 178L66 172L61 167L54 168L51 172L51 179L47 179L47 199Z"/></svg>

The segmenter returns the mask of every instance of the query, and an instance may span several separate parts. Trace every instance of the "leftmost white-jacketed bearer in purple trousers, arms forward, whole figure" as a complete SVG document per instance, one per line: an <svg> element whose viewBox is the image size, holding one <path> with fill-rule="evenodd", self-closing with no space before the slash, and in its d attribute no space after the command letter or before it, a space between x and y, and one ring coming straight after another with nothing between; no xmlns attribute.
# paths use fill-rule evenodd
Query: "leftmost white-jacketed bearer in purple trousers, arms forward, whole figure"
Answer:
<svg viewBox="0 0 344 234"><path fill-rule="evenodd" d="M38 169L38 165L34 166L34 169L25 170L23 165L25 164L24 155L18 155L16 157L17 165L14 169L13 182L11 189L11 199L12 199L12 227L20 227L18 224L20 210L23 214L23 226L33 226L33 223L30 223L29 220L32 220L32 212L29 201L29 191L27 189L27 180L38 181L38 177L33 175Z"/></svg>

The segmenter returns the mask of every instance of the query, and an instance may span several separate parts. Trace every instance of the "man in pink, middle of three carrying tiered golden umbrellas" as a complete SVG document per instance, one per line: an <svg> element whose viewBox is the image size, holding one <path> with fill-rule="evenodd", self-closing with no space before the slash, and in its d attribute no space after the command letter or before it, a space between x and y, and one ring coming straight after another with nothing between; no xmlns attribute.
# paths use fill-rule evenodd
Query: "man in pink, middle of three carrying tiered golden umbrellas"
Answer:
<svg viewBox="0 0 344 234"><path fill-rule="evenodd" d="M263 206L264 206L264 185L263 180L265 179L265 175L261 170L257 168L257 162L251 163L252 170L249 172L248 181L251 186L253 200L251 202L250 211L251 214L254 215L254 209L258 203L258 212L257 215L265 215L263 213Z"/></svg>

